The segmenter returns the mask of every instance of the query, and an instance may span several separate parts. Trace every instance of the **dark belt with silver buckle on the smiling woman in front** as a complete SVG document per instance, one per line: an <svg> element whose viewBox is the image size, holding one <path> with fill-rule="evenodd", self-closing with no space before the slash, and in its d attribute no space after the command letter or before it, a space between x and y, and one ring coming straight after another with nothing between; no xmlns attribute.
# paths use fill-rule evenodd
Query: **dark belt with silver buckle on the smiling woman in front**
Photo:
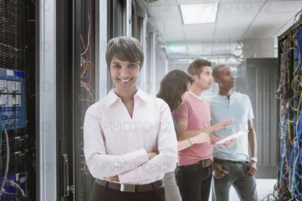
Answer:
<svg viewBox="0 0 302 201"><path fill-rule="evenodd" d="M96 182L104 187L106 187L108 183L108 188L125 191L125 192L143 192L143 191L149 191L149 190L164 187L163 179L155 181L153 183L142 184L142 185L114 183L99 178L96 178Z"/></svg>

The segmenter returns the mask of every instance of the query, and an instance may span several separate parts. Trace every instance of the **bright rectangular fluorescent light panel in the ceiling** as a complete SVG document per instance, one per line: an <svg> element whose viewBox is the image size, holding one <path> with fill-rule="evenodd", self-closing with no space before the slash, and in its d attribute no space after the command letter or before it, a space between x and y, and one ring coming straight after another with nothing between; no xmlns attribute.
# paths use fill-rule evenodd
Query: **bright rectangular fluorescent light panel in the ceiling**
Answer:
<svg viewBox="0 0 302 201"><path fill-rule="evenodd" d="M180 5L183 24L215 23L219 4L206 2L204 4Z"/></svg>

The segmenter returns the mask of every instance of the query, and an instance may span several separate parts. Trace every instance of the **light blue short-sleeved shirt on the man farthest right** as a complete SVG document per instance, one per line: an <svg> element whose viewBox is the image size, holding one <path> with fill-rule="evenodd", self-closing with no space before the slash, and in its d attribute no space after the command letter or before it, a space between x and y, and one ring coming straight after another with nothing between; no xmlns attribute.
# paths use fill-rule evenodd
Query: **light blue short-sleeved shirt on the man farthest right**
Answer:
<svg viewBox="0 0 302 201"><path fill-rule="evenodd" d="M212 133L214 136L224 138L241 130L248 132L248 121L254 118L249 96L234 91L230 100L219 94L206 99L210 103L213 125L234 118L234 123L230 125L230 128ZM237 138L232 147L214 146L213 157L232 161L249 161L248 134Z"/></svg>

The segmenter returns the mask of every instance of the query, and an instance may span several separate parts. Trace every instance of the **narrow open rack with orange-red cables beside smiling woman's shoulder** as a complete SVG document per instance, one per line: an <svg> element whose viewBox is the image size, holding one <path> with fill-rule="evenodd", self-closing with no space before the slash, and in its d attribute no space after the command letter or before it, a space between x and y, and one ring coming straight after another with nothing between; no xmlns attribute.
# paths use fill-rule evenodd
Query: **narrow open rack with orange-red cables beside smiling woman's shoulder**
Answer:
<svg viewBox="0 0 302 201"><path fill-rule="evenodd" d="M93 176L87 167L85 155L84 155L84 118L87 109L96 103L96 1L81 1L81 99L79 100L79 108L81 108L81 114L79 113L81 132L78 133L79 141L75 141L80 146L76 146L75 149L81 150L81 164L75 165L81 166L81 176L77 172L78 182L81 182L81 194L80 192L75 197L75 200L89 200L91 195L91 189L94 182ZM79 66L80 67L80 66ZM80 80L79 80L80 81ZM101 80L103 81L103 80ZM80 83L80 82L78 82ZM79 189L80 190L80 189ZM81 195L81 196L80 196Z"/></svg>

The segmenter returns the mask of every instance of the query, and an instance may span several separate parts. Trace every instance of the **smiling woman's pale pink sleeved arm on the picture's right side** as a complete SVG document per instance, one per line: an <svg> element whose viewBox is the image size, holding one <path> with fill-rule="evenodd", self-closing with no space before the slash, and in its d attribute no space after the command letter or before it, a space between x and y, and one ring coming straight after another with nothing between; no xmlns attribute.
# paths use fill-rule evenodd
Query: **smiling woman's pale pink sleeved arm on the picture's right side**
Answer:
<svg viewBox="0 0 302 201"><path fill-rule="evenodd" d="M174 171L177 162L177 140L169 106L163 101L160 114L160 131L158 133L158 151L146 163L118 175L120 183L138 182Z"/></svg>

